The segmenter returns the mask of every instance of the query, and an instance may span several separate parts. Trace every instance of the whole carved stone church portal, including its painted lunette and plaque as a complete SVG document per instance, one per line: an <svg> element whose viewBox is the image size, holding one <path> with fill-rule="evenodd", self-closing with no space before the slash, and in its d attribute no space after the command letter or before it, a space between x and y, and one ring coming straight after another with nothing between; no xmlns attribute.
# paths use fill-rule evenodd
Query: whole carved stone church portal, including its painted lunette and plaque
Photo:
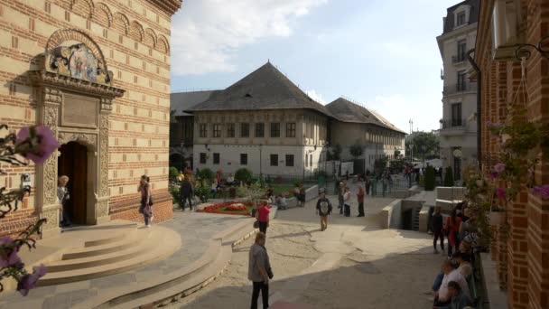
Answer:
<svg viewBox="0 0 549 309"><path fill-rule="evenodd" d="M30 71L37 93L39 124L49 126L60 144L86 145L91 158L87 224L109 220L108 214L108 116L112 100L125 90L112 86L103 53L87 33L62 29L51 35L46 51L38 57L40 70ZM42 206L44 237L59 232L57 201L58 156L37 167L37 205Z"/></svg>

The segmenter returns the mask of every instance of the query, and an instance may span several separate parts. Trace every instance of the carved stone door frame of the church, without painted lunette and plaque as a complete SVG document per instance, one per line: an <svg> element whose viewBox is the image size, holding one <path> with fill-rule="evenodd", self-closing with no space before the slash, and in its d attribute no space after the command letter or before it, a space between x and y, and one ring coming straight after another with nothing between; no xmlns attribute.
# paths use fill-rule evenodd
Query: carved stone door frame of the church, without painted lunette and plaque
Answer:
<svg viewBox="0 0 549 309"><path fill-rule="evenodd" d="M63 42L81 42L96 57L105 74L97 82L70 76L65 67L52 66L59 60L56 49ZM122 97L123 89L112 86L112 72L107 70L103 53L87 33L76 29L61 29L53 33L46 45L46 52L37 57L39 70L29 71L33 80L37 108L37 124L49 126L60 144L75 141L88 148L88 197L87 224L100 224L109 218L108 192L108 117L112 100ZM59 62L58 62L59 64ZM61 108L65 107L65 94L98 101L96 121L93 126L64 126ZM41 217L47 219L42 226L43 237L60 232L60 206L57 201L58 156L51 155L36 167L36 207L41 208Z"/></svg>

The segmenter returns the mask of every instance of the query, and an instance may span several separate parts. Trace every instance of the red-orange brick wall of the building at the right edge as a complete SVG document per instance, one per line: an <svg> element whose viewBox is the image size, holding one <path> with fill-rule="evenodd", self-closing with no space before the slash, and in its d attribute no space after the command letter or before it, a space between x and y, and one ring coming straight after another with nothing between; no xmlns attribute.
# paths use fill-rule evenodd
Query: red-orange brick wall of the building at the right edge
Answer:
<svg viewBox="0 0 549 309"><path fill-rule="evenodd" d="M481 2L476 61L482 71L482 121L507 119L509 102L525 104L528 119L549 121L549 61L538 52L526 61L526 89L518 61L491 60L491 12L494 0ZM549 35L549 1L522 0L526 16L526 41L537 44ZM510 116L509 116L510 117ZM485 158L497 155L499 141L486 129L481 134ZM549 168L541 156L535 166L535 183L549 183ZM493 162L485 162L486 172ZM494 227L491 257L498 261L500 286L507 289L509 308L549 308L549 202L530 192L521 192L507 205L510 232ZM508 237L507 237L508 235Z"/></svg>

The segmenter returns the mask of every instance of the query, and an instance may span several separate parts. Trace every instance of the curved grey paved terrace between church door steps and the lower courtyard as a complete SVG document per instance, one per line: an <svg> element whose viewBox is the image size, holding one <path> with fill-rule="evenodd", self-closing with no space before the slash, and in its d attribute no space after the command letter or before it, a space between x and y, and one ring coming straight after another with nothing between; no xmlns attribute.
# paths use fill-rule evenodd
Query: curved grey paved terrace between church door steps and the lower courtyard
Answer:
<svg viewBox="0 0 549 309"><path fill-rule="evenodd" d="M158 224L181 235L181 248L171 257L125 273L66 285L39 287L31 290L26 297L17 292L1 295L0 309L70 309L89 297L113 293L120 286L136 285L147 278L159 279L176 269L189 266L209 248L209 239L247 219L248 217L234 215L174 211L173 220Z"/></svg>

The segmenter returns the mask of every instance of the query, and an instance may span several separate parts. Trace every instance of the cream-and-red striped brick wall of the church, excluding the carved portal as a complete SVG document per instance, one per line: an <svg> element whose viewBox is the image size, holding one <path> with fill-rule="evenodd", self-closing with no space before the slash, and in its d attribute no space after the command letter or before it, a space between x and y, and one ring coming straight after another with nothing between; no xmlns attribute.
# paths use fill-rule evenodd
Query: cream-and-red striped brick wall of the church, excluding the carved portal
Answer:
<svg viewBox="0 0 549 309"><path fill-rule="evenodd" d="M178 0L170 0L178 2ZM114 86L125 89L109 117L109 192L112 218L134 219L139 177L151 177L156 195L169 195L170 27L172 12L146 0L0 0L0 123L17 130L36 122L36 90L28 70L52 33L79 29L103 53ZM170 5L167 5L170 6ZM0 185L19 186L33 164L8 169ZM35 183L34 183L35 184ZM119 211L131 199L132 210ZM171 218L171 199L160 201L155 220ZM39 215L32 196L21 211L0 220L0 234L22 229Z"/></svg>

